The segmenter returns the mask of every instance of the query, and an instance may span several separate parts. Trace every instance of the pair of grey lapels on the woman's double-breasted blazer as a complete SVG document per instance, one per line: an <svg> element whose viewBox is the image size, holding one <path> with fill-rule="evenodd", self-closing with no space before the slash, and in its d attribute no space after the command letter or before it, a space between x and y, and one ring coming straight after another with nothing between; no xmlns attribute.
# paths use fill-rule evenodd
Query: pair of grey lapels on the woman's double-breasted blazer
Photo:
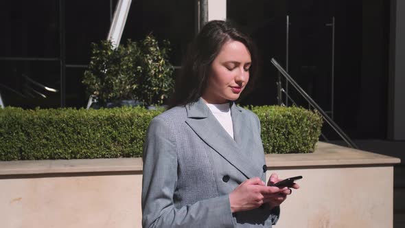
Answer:
<svg viewBox="0 0 405 228"><path fill-rule="evenodd" d="M240 124L242 120L240 110L234 106L235 104L232 104L231 115L235 118L232 119L235 140L224 130L201 98L198 102L186 106L188 117L186 123L213 150L216 150L247 178L251 178L257 176L257 170L254 169L250 156L245 153L246 147L243 144L247 142L242 138L244 126Z"/></svg>

